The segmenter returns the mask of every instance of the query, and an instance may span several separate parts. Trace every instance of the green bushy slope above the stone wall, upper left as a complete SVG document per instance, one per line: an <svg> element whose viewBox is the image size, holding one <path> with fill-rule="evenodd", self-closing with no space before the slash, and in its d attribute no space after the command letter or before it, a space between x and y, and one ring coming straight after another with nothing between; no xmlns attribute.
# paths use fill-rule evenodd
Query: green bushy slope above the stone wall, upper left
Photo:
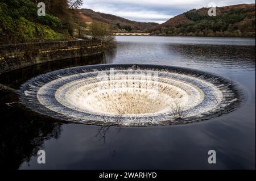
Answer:
<svg viewBox="0 0 256 181"><path fill-rule="evenodd" d="M69 38L59 18L38 16L37 7L30 0L0 0L0 44Z"/></svg>

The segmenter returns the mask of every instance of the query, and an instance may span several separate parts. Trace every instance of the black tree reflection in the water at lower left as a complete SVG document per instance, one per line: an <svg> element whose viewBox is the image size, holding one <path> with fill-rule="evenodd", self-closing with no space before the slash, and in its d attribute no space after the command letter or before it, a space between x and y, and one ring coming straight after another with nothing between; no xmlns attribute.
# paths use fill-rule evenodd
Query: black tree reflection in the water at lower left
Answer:
<svg viewBox="0 0 256 181"><path fill-rule="evenodd" d="M7 106L10 96L13 95L1 95L0 99L0 165L3 169L19 169L43 148L45 140L59 138L61 123L46 121L16 103Z"/></svg>

